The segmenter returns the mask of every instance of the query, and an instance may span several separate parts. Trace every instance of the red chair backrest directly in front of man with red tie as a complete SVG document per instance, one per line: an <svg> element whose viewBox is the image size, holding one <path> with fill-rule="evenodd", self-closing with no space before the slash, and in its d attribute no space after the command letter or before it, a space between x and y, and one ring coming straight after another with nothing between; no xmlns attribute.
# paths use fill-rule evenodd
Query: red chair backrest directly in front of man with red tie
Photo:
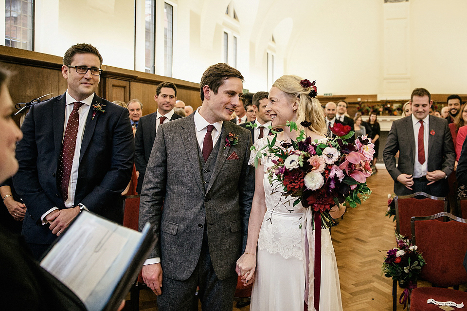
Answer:
<svg viewBox="0 0 467 311"><path fill-rule="evenodd" d="M414 216L429 216L448 210L446 198L434 197L425 192L395 197L395 220L397 232L411 238L410 219Z"/></svg>

